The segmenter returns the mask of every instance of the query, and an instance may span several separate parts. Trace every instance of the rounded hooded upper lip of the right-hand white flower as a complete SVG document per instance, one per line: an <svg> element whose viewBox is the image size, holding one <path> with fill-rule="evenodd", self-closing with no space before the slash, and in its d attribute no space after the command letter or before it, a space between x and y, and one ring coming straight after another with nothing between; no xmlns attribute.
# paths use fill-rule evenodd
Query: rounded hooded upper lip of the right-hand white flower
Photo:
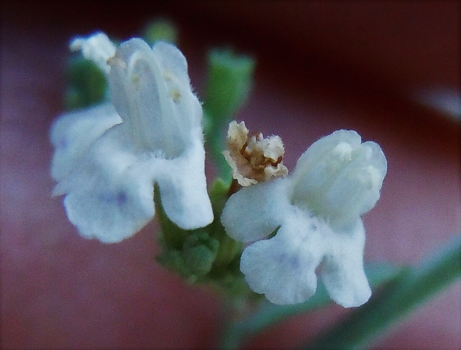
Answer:
<svg viewBox="0 0 461 350"><path fill-rule="evenodd" d="M355 131L338 130L315 142L298 160L291 202L333 227L346 227L375 205L386 171L381 147L362 144Z"/></svg>

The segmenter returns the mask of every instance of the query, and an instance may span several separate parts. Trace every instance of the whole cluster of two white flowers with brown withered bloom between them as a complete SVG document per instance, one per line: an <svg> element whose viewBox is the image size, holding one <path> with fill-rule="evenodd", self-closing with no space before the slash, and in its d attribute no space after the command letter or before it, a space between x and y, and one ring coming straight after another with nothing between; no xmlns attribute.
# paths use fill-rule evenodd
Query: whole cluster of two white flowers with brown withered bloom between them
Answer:
<svg viewBox="0 0 461 350"><path fill-rule="evenodd" d="M224 155L245 187L225 204L222 226L219 220L209 225L203 112L182 53L138 38L116 47L103 33L77 38L71 49L96 63L110 87L110 102L64 114L51 130L54 194L65 196L68 218L82 236L105 243L132 236L154 216L156 184L166 216L183 235L164 254L179 270L203 276L217 256L229 255L221 263L230 264L243 249L237 240L247 245L240 270L248 285L275 304L307 300L316 271L338 304L368 300L361 215L379 199L387 171L376 143L335 131L309 147L286 176L280 137L249 136L243 122L232 122ZM223 266L220 273L228 276Z"/></svg>

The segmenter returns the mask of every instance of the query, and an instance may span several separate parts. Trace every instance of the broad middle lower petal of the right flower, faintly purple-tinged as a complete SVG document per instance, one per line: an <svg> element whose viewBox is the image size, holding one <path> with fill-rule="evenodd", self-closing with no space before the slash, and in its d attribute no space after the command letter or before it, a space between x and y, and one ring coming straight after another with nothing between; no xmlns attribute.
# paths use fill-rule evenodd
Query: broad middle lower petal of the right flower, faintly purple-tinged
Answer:
<svg viewBox="0 0 461 350"><path fill-rule="evenodd" d="M273 238L248 246L240 270L250 288L279 305L300 303L312 296L317 287L315 269L323 252L321 228L315 218L295 210Z"/></svg>

